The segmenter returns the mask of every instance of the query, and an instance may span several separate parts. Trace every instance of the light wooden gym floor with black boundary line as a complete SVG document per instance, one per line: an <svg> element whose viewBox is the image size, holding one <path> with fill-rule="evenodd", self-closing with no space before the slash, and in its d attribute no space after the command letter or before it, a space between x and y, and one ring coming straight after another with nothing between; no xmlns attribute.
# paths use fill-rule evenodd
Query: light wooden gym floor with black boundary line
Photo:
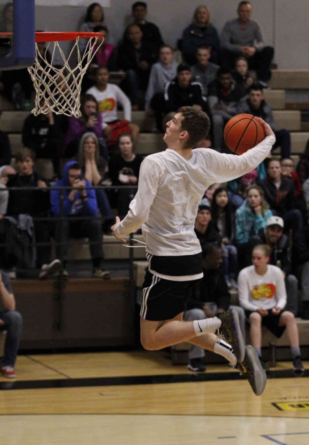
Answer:
<svg viewBox="0 0 309 445"><path fill-rule="evenodd" d="M307 445L304 365L277 362L257 397L227 364L195 374L166 351L18 356L16 380L0 378L2 443Z"/></svg>

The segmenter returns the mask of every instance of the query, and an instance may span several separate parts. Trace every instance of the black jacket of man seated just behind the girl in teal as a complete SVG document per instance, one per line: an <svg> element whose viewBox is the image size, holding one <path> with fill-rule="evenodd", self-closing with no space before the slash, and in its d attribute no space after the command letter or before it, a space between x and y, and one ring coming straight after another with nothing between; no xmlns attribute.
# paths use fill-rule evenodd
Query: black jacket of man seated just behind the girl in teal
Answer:
<svg viewBox="0 0 309 445"><path fill-rule="evenodd" d="M264 190L265 201L268 202L270 209L276 210L279 216L294 208L295 193L291 179L281 175L279 190L277 190L277 187L269 176L260 179L258 184Z"/></svg>

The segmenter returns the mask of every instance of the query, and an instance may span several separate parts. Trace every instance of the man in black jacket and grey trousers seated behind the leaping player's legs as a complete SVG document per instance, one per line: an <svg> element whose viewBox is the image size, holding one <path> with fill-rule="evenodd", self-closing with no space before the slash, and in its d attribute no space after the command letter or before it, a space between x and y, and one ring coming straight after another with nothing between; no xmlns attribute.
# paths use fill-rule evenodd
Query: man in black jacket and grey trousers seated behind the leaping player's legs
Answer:
<svg viewBox="0 0 309 445"><path fill-rule="evenodd" d="M207 243L202 247L202 255L204 276L187 302L188 309L184 312L183 320L203 320L205 317L214 317L219 312L235 308L241 333L245 339L245 312L239 306L230 305L231 295L220 268L222 263L221 247L217 244ZM190 345L188 369L190 371L205 371L205 366L201 362L204 356L203 348Z"/></svg>

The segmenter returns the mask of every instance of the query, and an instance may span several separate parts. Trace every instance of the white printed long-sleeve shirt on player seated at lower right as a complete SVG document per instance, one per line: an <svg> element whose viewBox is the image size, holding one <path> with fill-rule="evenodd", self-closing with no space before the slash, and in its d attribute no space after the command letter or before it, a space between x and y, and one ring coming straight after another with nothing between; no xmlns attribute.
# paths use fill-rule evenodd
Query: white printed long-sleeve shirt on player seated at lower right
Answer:
<svg viewBox="0 0 309 445"><path fill-rule="evenodd" d="M239 272L237 285L239 303L247 311L285 307L285 282L277 266L268 264L264 275L258 275L254 266L245 267Z"/></svg>

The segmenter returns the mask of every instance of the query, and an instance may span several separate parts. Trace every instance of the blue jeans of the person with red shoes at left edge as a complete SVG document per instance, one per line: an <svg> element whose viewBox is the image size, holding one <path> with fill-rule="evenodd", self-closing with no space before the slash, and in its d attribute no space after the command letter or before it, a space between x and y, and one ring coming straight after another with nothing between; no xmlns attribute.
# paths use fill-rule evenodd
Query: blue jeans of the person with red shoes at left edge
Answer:
<svg viewBox="0 0 309 445"><path fill-rule="evenodd" d="M12 366L12 368L14 368L23 327L23 319L20 313L16 311L0 312L0 319L4 321L4 326L1 326L1 330L7 331L2 367Z"/></svg>

